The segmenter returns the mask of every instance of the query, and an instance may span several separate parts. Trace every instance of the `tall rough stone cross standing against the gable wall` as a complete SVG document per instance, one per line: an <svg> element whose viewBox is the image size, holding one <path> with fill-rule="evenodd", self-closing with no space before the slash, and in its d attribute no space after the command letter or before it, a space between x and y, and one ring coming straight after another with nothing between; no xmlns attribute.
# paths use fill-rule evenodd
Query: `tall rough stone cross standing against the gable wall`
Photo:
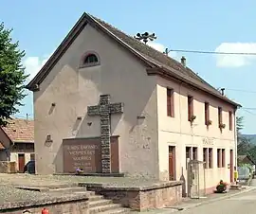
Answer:
<svg viewBox="0 0 256 214"><path fill-rule="evenodd" d="M110 95L101 95L100 104L87 107L88 116L101 116L102 173L111 173L111 114L123 113L123 103L110 103Z"/></svg>

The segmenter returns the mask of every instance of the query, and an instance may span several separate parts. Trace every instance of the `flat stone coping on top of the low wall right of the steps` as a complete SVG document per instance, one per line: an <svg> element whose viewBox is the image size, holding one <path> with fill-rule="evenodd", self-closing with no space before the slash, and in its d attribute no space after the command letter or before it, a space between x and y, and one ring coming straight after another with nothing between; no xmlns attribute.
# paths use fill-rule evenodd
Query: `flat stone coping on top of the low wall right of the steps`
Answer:
<svg viewBox="0 0 256 214"><path fill-rule="evenodd" d="M153 183L152 185L147 185L144 187L137 187L134 186L120 186L119 184L116 185L109 185L109 184L103 184L103 183L89 183L89 182L80 182L78 183L79 187L96 187L100 189L105 189L105 190L119 190L119 191L146 191L146 190L153 190L157 188L163 188L163 187L174 187L174 186L179 186L182 185L181 181L172 181L172 182L159 182L158 184Z"/></svg>

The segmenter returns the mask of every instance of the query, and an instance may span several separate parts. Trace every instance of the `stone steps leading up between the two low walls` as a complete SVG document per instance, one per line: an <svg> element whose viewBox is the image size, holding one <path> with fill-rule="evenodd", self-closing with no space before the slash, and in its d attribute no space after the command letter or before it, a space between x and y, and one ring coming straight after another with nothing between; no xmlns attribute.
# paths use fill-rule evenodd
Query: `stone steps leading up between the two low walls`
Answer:
<svg viewBox="0 0 256 214"><path fill-rule="evenodd" d="M118 214L130 213L129 208L114 204L112 200L104 199L102 195L96 195L94 191L87 191L85 187L58 187L50 188L49 192L65 192L73 194L89 193L89 213L90 214Z"/></svg>

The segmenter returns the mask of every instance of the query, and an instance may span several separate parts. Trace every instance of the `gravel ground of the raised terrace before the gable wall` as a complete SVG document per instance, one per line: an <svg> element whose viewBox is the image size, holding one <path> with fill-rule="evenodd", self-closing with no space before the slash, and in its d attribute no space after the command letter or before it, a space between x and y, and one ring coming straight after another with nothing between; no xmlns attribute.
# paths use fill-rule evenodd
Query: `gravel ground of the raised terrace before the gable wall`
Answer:
<svg viewBox="0 0 256 214"><path fill-rule="evenodd" d="M119 177L85 177L66 175L29 175L29 174L1 174L0 173L0 205L7 202L44 199L52 193L18 189L15 187L50 187L57 185L70 185L79 182L102 183L110 186L143 187L159 184L157 181L137 178Z"/></svg>

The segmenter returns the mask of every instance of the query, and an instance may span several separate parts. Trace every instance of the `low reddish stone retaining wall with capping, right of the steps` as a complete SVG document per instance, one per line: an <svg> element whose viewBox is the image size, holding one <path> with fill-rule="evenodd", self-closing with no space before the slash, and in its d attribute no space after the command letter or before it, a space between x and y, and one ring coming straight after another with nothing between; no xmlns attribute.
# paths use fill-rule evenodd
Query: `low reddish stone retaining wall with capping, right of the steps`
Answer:
<svg viewBox="0 0 256 214"><path fill-rule="evenodd" d="M114 203L135 211L163 208L176 205L182 200L182 182L146 181L142 183L79 183L89 191L95 191Z"/></svg>

